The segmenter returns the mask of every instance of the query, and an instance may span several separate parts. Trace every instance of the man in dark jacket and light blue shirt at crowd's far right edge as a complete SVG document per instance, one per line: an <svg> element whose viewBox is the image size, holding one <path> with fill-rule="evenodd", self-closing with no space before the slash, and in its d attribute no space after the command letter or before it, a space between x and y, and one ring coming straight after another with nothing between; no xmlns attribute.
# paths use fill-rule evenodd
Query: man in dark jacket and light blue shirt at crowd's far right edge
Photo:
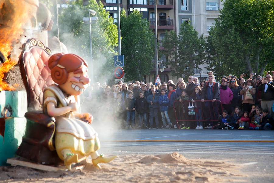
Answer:
<svg viewBox="0 0 274 183"><path fill-rule="evenodd" d="M267 74L265 78L263 78L262 84L260 84L258 90L261 91L262 109L267 109L269 115L273 117L272 105L274 102L274 83L272 82L272 76L270 74Z"/></svg>

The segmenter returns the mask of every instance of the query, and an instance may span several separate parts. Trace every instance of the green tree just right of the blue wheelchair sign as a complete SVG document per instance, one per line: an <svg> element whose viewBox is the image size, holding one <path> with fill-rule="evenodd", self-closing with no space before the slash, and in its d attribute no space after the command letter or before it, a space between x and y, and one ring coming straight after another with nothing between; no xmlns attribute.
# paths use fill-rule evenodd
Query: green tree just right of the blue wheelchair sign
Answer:
<svg viewBox="0 0 274 183"><path fill-rule="evenodd" d="M121 54L125 56L125 81L144 80L154 56L154 35L149 22L135 10L128 17L121 12Z"/></svg>

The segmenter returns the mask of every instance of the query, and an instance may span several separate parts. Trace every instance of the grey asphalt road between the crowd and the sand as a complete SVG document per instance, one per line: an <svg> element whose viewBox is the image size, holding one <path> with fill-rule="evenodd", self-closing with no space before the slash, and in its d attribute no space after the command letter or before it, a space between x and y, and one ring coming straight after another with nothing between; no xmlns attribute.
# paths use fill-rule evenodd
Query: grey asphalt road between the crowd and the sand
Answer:
<svg viewBox="0 0 274 183"><path fill-rule="evenodd" d="M244 165L250 182L274 182L274 131L159 129L97 129L100 153L166 154L178 152L188 159L223 160ZM129 140L129 142L123 142ZM146 140L147 142L139 142ZM194 142L153 142L154 140L191 140ZM197 142L204 140L206 142ZM230 142L213 142L224 140ZM238 142L256 141L256 142ZM272 141L272 142L259 142ZM248 173L249 172L249 173Z"/></svg>

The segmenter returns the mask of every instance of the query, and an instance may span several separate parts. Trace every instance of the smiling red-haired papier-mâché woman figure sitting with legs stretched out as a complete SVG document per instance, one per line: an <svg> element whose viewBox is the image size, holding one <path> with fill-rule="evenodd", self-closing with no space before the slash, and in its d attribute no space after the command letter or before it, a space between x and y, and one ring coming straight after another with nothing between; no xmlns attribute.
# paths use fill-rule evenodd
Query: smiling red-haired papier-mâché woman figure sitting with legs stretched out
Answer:
<svg viewBox="0 0 274 183"><path fill-rule="evenodd" d="M79 95L87 88L90 79L87 63L74 54L57 53L50 57L48 66L56 84L44 90L43 112L56 119L55 148L68 169L72 163L92 157L93 165L108 163L114 157L99 156L100 142L90 126L93 117L89 113L77 113Z"/></svg>

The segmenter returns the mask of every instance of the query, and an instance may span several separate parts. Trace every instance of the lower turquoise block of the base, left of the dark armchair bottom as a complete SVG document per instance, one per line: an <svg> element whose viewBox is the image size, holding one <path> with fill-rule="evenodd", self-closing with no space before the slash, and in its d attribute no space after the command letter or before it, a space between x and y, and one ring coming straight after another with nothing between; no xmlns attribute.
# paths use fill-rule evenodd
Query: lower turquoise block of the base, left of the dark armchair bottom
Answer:
<svg viewBox="0 0 274 183"><path fill-rule="evenodd" d="M16 156L16 151L22 142L22 137L26 129L25 117L5 118L4 138L0 135L0 166L8 165L8 158Z"/></svg>

